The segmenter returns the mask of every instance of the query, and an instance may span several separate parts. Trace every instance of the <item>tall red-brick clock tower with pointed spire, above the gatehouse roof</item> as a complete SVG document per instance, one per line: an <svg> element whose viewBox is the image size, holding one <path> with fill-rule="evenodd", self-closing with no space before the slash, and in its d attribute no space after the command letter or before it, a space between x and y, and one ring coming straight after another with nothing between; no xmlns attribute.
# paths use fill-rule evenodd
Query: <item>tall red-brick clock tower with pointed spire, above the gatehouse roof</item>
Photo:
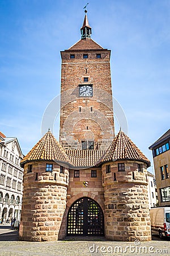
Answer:
<svg viewBox="0 0 170 256"><path fill-rule="evenodd" d="M91 39L85 11L81 39L61 51L59 143L68 150L107 150L114 139L111 51Z"/></svg>

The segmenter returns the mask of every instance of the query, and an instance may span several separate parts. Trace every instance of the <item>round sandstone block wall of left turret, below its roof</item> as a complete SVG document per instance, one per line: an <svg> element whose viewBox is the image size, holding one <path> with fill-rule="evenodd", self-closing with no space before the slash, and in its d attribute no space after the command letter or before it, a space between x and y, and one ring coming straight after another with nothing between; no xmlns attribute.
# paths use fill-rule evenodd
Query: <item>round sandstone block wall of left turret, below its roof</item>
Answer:
<svg viewBox="0 0 170 256"><path fill-rule="evenodd" d="M24 166L24 193L19 239L24 241L53 241L65 237L67 185L69 171L60 174L53 163L53 172L45 172L46 163L31 162L32 172ZM38 176L36 176L38 173ZM37 180L35 180L37 177Z"/></svg>

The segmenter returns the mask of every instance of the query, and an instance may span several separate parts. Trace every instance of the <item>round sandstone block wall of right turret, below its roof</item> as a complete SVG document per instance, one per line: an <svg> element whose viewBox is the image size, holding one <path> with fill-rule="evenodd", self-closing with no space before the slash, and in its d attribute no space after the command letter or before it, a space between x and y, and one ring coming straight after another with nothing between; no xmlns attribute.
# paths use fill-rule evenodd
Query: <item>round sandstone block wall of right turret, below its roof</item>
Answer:
<svg viewBox="0 0 170 256"><path fill-rule="evenodd" d="M140 162L122 161L125 171L118 172L117 163L120 162L108 163L108 174L106 164L102 167L105 237L113 241L151 240L146 165L143 164L143 172L138 172Z"/></svg>

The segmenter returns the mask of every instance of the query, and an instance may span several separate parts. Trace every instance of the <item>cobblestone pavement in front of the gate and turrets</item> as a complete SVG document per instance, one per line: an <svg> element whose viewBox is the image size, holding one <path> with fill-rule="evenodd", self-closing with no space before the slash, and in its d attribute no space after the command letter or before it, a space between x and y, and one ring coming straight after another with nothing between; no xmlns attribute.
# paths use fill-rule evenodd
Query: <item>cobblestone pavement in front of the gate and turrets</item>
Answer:
<svg viewBox="0 0 170 256"><path fill-rule="evenodd" d="M7 232L8 229L8 232ZM11 240L9 240L11 239ZM111 242L104 238L74 237L57 242L22 242L18 241L18 232L0 227L1 256L96 256L96 255L127 255L127 256L160 256L170 255L170 241L160 241L158 237L149 242ZM98 240L98 241L97 241ZM103 241L99 241L103 240Z"/></svg>

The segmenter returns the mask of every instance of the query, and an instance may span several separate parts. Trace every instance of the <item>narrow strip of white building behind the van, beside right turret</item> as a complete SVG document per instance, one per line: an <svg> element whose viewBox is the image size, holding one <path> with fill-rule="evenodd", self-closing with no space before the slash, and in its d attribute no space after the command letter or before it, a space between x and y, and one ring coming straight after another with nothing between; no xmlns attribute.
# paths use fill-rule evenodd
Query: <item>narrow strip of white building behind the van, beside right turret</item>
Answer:
<svg viewBox="0 0 170 256"><path fill-rule="evenodd" d="M156 188L156 179L154 174L147 172L148 176L148 201L150 208L158 205L158 192Z"/></svg>

